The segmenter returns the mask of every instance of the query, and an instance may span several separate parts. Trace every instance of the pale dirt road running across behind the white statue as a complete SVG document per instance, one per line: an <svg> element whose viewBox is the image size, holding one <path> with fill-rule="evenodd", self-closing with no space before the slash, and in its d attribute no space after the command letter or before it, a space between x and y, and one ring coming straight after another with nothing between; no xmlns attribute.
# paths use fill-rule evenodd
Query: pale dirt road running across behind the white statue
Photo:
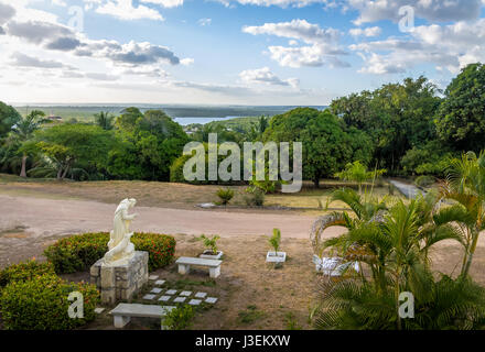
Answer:
<svg viewBox="0 0 485 352"><path fill-rule="evenodd" d="M65 234L109 231L116 205L90 200L0 195L0 266L30 256ZM238 213L137 207L134 231L225 237L269 235L279 228L287 239L308 239L310 216ZM332 235L338 232L333 230Z"/></svg>

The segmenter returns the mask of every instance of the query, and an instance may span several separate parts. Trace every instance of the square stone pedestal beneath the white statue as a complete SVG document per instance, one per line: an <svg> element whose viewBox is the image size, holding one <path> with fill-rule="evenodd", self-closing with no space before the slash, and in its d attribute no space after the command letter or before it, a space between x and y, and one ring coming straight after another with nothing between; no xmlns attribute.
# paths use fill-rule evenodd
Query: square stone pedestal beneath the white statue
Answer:
<svg viewBox="0 0 485 352"><path fill-rule="evenodd" d="M134 252L125 265L106 266L100 258L90 267L90 283L96 284L104 304L131 300L148 283L148 252Z"/></svg>

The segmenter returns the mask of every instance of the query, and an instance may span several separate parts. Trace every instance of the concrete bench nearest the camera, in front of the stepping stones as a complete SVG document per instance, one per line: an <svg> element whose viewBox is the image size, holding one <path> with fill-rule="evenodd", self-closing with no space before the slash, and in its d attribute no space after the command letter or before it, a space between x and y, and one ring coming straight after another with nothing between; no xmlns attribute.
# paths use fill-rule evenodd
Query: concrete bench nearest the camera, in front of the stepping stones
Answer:
<svg viewBox="0 0 485 352"><path fill-rule="evenodd" d="M130 322L131 317L159 318L161 319L173 306L140 305L140 304L119 304L109 314L114 316L115 328L123 328Z"/></svg>

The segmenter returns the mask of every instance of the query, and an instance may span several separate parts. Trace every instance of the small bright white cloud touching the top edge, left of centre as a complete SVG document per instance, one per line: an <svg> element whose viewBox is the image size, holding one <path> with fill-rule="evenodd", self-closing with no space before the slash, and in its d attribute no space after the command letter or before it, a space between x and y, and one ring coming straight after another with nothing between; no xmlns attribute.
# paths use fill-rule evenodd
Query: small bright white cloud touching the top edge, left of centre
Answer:
<svg viewBox="0 0 485 352"><path fill-rule="evenodd" d="M163 21L163 16L153 9L144 7L142 4L137 8L133 7L132 0L112 0L98 7L97 13L108 14L120 20L155 20Z"/></svg>

